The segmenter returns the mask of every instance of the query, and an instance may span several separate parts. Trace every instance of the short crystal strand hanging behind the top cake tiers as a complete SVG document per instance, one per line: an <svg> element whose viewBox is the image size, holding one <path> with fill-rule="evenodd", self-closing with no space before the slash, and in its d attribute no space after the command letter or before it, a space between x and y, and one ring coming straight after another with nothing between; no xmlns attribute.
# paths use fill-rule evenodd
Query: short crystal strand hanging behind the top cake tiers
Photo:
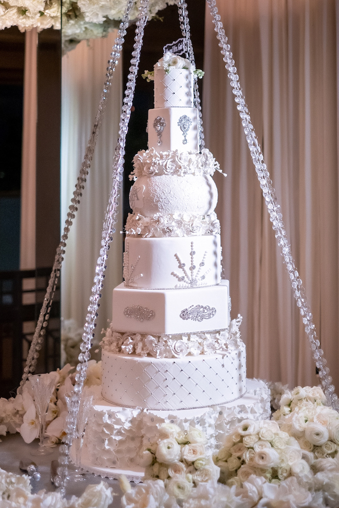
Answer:
<svg viewBox="0 0 339 508"><path fill-rule="evenodd" d="M191 41L191 28L187 4L184 0L178 0L179 23L182 36L186 39L187 58L195 66L194 52ZM200 150L205 147L204 133L202 127L201 101L199 96L198 77L194 76L194 106L198 110L198 143Z"/></svg>

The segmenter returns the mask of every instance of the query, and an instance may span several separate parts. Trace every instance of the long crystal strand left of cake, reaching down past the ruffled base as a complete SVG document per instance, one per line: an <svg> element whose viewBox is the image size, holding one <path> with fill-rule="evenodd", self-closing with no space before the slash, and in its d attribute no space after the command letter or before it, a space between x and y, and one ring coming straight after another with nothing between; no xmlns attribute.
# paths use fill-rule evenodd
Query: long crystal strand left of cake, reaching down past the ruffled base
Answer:
<svg viewBox="0 0 339 508"><path fill-rule="evenodd" d="M125 97L119 124L119 138L115 150L115 160L113 164L113 182L109 194L109 201L105 221L102 230L102 240L100 256L97 260L96 275L93 279L91 296L89 298L88 313L82 335L82 343L80 345L81 353L79 355L79 364L77 365L76 383L74 385L74 411L72 411L67 420L67 437L66 442L61 447L60 460L58 467L59 484L62 492L65 490L65 482L67 477L67 465L69 462L70 446L72 442L72 431L77 421L77 403L80 401L84 381L86 379L86 370L88 360L90 359L90 348L94 337L94 329L96 327L96 319L98 317L99 300L101 298L101 289L105 278L104 271L106 269L106 260L108 258L108 250L113 240L115 232L114 225L117 222L117 204L119 198L119 190L123 180L123 164L125 155L126 134L130 118L131 107L133 104L134 90L136 86L136 77L139 69L140 51L142 47L144 28L147 22L148 0L140 0L138 20L136 23L134 51L130 61L128 82L126 84Z"/></svg>

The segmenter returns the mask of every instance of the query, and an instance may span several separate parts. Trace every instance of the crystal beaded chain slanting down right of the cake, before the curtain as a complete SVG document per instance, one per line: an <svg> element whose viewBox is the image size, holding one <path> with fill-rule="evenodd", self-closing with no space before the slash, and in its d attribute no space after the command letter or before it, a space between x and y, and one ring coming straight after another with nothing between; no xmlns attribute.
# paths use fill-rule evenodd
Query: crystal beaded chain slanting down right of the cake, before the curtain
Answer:
<svg viewBox="0 0 339 508"><path fill-rule="evenodd" d="M303 282L299 277L299 273L296 269L294 259L292 257L291 247L287 240L287 233L285 230L285 224L283 222L283 215L281 214L280 206L277 204L277 197L275 194L275 189L272 187L270 173L268 172L266 164L263 161L263 155L256 138L253 125L251 123L249 110L246 102L244 101L242 89L240 88L239 84L239 76L237 74L237 69L234 66L233 56L230 51L230 45L227 44L227 36L225 35L221 18L216 7L216 0L207 0L207 3L209 4L213 17L213 23L215 25L214 29L217 32L217 39L219 40L219 47L221 48L220 51L223 55L225 68L229 72L228 77L233 88L232 91L234 93L234 100L237 103L237 109L242 120L242 126L244 133L246 134L246 140L248 142L253 164L255 166L258 180L260 182L263 198L265 199L265 203L270 214L270 221L272 222L272 228L275 231L275 238L277 239L278 246L281 249L281 256L283 256L284 262L286 264L293 290L293 296L299 308L300 315L302 316L303 323L305 325L305 331L312 349L313 358L319 370L321 385L326 395L327 402L335 409L339 410L338 398L334 393L332 378L329 375L330 371L329 368L326 367L327 362L324 358L324 351L321 349L319 340L316 336L315 326L312 321L313 316L311 314L310 307L306 302Z"/></svg>

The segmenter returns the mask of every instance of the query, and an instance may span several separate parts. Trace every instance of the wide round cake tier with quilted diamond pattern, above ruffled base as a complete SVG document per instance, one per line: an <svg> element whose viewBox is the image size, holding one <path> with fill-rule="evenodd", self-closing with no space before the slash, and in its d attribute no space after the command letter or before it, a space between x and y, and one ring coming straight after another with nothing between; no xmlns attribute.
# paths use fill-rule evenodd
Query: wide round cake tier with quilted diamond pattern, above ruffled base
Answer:
<svg viewBox="0 0 339 508"><path fill-rule="evenodd" d="M152 410L220 405L246 392L246 349L184 358L140 358L102 351L102 396Z"/></svg>

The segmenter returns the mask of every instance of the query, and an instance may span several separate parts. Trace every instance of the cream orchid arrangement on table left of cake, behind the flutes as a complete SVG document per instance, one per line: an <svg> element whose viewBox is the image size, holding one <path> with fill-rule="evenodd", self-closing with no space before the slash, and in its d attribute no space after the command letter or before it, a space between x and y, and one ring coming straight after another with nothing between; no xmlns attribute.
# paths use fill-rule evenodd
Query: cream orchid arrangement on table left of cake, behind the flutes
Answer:
<svg viewBox="0 0 339 508"><path fill-rule="evenodd" d="M64 398L75 384L76 373L69 364L62 369L49 374L43 374L54 379L54 391L51 397L46 418L46 432L44 443L55 446L65 436L67 406ZM85 389L89 386L101 384L101 362L90 360L86 372ZM39 419L36 415L33 393L29 381L23 386L22 394L10 399L0 399L0 435L20 432L26 443L31 443L39 435Z"/></svg>

